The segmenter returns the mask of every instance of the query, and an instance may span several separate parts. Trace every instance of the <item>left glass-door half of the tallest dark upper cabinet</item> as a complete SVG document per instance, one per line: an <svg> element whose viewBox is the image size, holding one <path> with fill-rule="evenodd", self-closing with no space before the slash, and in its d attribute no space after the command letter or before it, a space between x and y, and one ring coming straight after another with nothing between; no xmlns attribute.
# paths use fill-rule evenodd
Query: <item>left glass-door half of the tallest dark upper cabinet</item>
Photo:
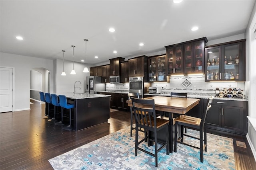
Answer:
<svg viewBox="0 0 256 170"><path fill-rule="evenodd" d="M168 74L183 74L183 45L167 47Z"/></svg>

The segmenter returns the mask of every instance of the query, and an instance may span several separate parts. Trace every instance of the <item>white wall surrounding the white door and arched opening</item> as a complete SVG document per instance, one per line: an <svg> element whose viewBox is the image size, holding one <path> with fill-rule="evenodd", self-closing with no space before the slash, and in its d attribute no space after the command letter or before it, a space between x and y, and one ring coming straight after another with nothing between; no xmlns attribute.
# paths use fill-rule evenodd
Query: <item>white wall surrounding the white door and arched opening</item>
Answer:
<svg viewBox="0 0 256 170"><path fill-rule="evenodd" d="M52 60L8 53L0 53L0 66L14 68L14 111L30 109L30 70L43 67L53 71Z"/></svg>

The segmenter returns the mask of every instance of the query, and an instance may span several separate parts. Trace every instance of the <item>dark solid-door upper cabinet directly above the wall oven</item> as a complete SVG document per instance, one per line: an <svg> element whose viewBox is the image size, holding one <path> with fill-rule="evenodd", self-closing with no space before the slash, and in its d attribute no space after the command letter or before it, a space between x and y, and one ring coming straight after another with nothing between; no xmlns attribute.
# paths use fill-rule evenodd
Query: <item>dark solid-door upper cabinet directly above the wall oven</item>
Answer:
<svg viewBox="0 0 256 170"><path fill-rule="evenodd" d="M129 77L144 76L144 81L148 81L148 57L142 55L129 60Z"/></svg>

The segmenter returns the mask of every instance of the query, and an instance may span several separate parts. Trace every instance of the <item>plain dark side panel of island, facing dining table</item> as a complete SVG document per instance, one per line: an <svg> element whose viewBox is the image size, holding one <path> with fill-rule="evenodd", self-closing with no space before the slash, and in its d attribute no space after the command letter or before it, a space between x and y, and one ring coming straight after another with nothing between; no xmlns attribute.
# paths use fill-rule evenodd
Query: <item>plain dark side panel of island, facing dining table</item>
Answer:
<svg viewBox="0 0 256 170"><path fill-rule="evenodd" d="M76 99L74 110L75 131L108 122L110 97Z"/></svg>

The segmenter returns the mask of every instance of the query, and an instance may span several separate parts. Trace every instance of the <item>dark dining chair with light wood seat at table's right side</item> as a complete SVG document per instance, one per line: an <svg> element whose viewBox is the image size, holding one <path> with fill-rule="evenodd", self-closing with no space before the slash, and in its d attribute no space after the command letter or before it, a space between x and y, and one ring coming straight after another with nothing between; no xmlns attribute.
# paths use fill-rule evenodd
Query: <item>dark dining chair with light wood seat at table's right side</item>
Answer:
<svg viewBox="0 0 256 170"><path fill-rule="evenodd" d="M203 157L204 151L207 151L206 125L205 125L206 124L206 116L207 116L207 112L209 111L209 109L211 107L211 103L212 103L213 99L214 99L214 97L208 98L207 105L206 105L207 107L204 110L202 119L197 118L197 117L188 116L188 115L180 115L179 117L175 118L174 152L177 152L177 143L181 143L181 144L184 144L184 145L196 148L196 149L200 149L200 161L204 162L204 157ZM178 125L180 125L182 127L179 139L177 139ZM199 138L189 135L187 133L184 134L183 126L192 127L193 129L199 130L199 133L200 133ZM184 142L184 136L198 139L200 141L200 147L196 147L195 145Z"/></svg>

